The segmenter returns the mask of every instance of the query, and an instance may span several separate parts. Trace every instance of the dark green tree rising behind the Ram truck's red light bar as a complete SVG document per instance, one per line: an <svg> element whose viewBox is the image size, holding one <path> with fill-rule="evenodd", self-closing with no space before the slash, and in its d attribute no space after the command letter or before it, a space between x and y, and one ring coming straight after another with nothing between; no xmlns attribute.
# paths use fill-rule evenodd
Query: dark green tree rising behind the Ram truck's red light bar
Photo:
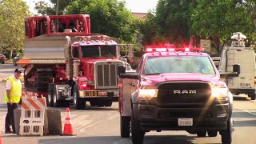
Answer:
<svg viewBox="0 0 256 144"><path fill-rule="evenodd" d="M148 20L142 26L144 42L188 44L191 8L195 4L194 0L159 0L155 13L150 12ZM151 31L146 31L147 29Z"/></svg>

